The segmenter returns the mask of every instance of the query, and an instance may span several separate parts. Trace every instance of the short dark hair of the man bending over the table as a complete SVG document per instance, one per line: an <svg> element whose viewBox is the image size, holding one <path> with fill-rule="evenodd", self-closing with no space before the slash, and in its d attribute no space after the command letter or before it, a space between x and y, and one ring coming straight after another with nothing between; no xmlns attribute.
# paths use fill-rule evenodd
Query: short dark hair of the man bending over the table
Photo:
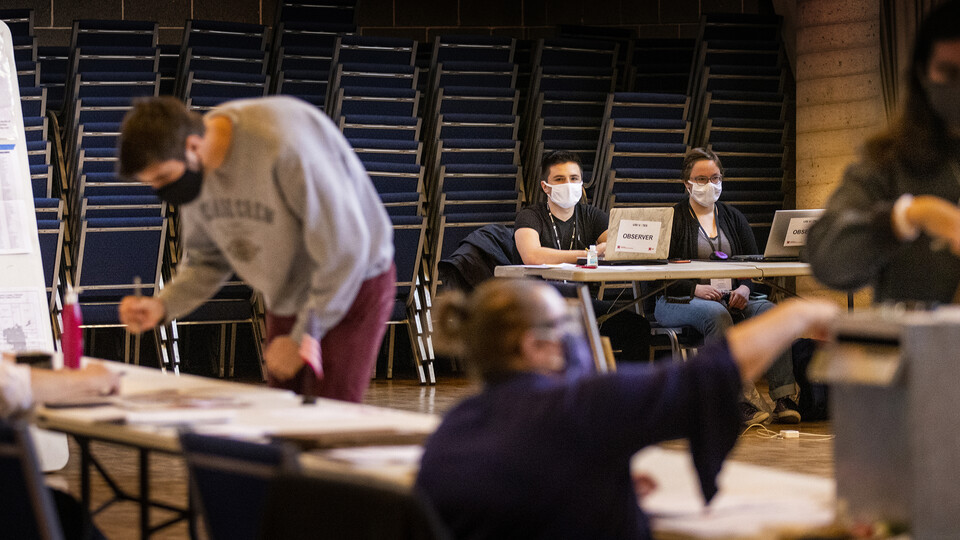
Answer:
<svg viewBox="0 0 960 540"><path fill-rule="evenodd" d="M118 173L131 177L158 161L186 160L189 135L203 135L203 117L183 102L171 96L137 100L120 128Z"/></svg>

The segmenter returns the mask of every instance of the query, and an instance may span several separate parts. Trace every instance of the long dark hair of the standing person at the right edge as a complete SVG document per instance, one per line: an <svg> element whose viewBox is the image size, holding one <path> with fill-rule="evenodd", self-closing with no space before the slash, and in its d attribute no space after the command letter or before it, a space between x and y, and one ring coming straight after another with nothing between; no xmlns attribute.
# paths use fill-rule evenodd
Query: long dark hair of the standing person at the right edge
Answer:
<svg viewBox="0 0 960 540"><path fill-rule="evenodd" d="M882 167L902 165L912 174L931 174L943 166L942 157L950 153L949 131L930 106L923 81L934 44L960 38L958 21L960 1L950 0L933 9L920 25L903 105L889 127L865 145L867 156Z"/></svg>

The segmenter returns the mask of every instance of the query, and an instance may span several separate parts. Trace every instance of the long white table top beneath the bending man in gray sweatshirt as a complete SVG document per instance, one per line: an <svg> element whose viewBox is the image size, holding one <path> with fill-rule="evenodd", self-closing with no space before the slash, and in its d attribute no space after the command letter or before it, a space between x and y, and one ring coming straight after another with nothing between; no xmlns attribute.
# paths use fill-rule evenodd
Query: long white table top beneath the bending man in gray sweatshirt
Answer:
<svg viewBox="0 0 960 540"><path fill-rule="evenodd" d="M101 362L123 374L115 404L89 408L38 406L37 424L45 429L118 444L179 453L178 428L199 433L260 439L272 435L331 435L397 431L432 433L440 417L371 405L317 398L310 405L293 392L194 375L164 374L153 368ZM208 400L202 407L146 406L145 396L175 393ZM138 401L140 400L140 401Z"/></svg>

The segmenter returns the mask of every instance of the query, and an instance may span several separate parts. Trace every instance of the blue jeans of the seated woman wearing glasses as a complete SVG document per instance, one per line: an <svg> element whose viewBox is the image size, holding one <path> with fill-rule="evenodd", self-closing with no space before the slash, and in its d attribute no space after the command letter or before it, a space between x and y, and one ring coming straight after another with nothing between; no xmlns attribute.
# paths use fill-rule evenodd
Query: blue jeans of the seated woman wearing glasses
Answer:
<svg viewBox="0 0 960 540"><path fill-rule="evenodd" d="M749 319L772 308L773 302L765 299L751 299L747 307L737 317ZM736 311L734 311L736 313ZM705 338L722 335L733 326L733 315L726 306L713 300L694 298L689 304L672 304L661 296L657 298L654 315L663 326L692 326ZM770 388L770 399L776 401L796 393L796 379L793 378L793 354L788 347L764 374Z"/></svg>

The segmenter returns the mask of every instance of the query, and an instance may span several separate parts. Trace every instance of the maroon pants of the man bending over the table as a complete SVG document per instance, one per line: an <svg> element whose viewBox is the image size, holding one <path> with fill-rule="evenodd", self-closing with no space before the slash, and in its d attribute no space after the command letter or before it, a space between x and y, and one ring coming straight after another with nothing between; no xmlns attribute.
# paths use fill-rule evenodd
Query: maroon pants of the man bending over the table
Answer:
<svg viewBox="0 0 960 540"><path fill-rule="evenodd" d="M303 369L288 381L278 381L269 374L270 386L294 392L359 403L370 385L370 373L377 361L377 352L387 330L387 319L396 298L397 268L363 282L350 309L336 326L320 340L320 361L323 379L313 369ZM277 336L290 333L297 317L277 316L267 312L267 344Z"/></svg>

